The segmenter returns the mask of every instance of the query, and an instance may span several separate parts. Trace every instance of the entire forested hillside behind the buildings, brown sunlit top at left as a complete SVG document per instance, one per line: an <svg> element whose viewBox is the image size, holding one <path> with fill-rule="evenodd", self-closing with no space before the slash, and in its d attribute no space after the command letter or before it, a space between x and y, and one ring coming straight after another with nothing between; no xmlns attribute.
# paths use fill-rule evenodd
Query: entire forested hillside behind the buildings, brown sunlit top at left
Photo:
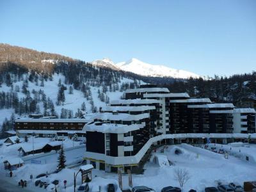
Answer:
<svg viewBox="0 0 256 192"><path fill-rule="evenodd" d="M256 72L211 79L145 77L74 60L59 54L0 44L0 127L12 129L14 118L42 113L79 118L120 99L127 88L141 83L164 86L191 97L236 102L255 98ZM8 120L11 119L11 120Z"/></svg>

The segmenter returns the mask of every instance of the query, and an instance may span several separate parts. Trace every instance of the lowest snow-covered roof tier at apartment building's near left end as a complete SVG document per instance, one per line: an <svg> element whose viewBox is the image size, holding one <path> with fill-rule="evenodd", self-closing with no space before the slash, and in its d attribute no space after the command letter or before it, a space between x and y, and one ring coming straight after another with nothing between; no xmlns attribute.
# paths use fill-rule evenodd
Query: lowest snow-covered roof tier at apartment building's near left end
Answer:
<svg viewBox="0 0 256 192"><path fill-rule="evenodd" d="M123 125L123 124L108 124L103 123L96 125L100 122L94 122L93 124L85 125L85 131L97 131L97 132L110 132L110 133L125 133L129 131L135 131L145 127L145 123L142 124L132 124L132 125ZM101 122L102 123L102 122Z"/></svg>

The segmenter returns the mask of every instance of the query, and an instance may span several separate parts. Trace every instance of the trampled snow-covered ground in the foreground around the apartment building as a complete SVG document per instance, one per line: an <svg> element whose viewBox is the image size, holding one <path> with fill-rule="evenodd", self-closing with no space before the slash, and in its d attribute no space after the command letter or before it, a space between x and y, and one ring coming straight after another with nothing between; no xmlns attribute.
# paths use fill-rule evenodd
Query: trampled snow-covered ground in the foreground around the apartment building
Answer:
<svg viewBox="0 0 256 192"><path fill-rule="evenodd" d="M234 146L234 144L231 144ZM250 146L250 147L248 147ZM3 146L2 146L3 147ZM1 147L1 148L2 148ZM222 145L222 147L229 148L230 145ZM143 175L132 175L133 186L148 186L155 189L157 192L161 191L162 188L166 186L177 186L179 183L174 179L174 172L176 168L185 168L188 170L191 178L182 188L182 191L189 191L189 189L196 189L196 191L204 191L205 187L217 186L217 182L221 181L223 183L229 182L238 182L243 186L243 182L246 180L255 180L255 163L250 163L243 161L235 156L228 156L228 159L225 159L223 154L218 154L206 150L204 148L193 147L187 144L181 145L171 145L164 148L164 152L161 153L159 148L157 152L153 152L152 156L157 155L157 157L166 156L168 160L172 161L174 165L172 166L159 166L159 164L154 163L154 161L149 161L145 164L145 172ZM241 144L239 149L243 150L248 154L256 154L256 145L253 144ZM175 151L179 150L180 154L175 154ZM66 153L67 161L72 161L72 159L81 152L75 152L72 154ZM164 156L163 156L164 155ZM69 160L68 160L69 159ZM152 159L152 158L151 158ZM52 158L52 162L55 161ZM3 165L2 165L3 166ZM56 169L56 163L47 163L47 164L26 164L22 168L14 171L15 177L13 180L18 181L19 179L28 179L31 172L37 173L46 172L49 170ZM47 178L48 181L54 179L60 180L60 191L74 191L74 172L79 170L79 166L76 168L65 168L59 173L52 173ZM8 173L1 169L1 177L3 179L8 178ZM102 191L106 191L106 185L113 183L118 187L118 176L116 173L105 173L100 170L92 171L92 182L90 183L90 191L92 188L100 186ZM2 179L2 180L3 180ZM35 182L36 179L33 179ZM63 181L67 180L67 189L63 189ZM123 189L128 187L128 177L123 175ZM32 184L33 184L32 182ZM29 184L33 189L39 189L35 187L34 184ZM81 184L81 174L77 175L77 187ZM119 188L117 188L120 191Z"/></svg>

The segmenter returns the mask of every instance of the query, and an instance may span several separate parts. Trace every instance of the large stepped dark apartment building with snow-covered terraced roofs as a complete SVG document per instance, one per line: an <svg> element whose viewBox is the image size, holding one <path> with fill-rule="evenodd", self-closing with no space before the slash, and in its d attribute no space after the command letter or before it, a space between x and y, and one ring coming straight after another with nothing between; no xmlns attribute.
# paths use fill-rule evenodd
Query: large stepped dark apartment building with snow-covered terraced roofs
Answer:
<svg viewBox="0 0 256 192"><path fill-rule="evenodd" d="M85 159L106 172L132 170L166 134L179 134L178 140L194 134L195 140L203 140L209 134L255 132L254 109L236 110L230 103L190 98L152 84L127 90L125 99L113 100L100 112L85 125Z"/></svg>

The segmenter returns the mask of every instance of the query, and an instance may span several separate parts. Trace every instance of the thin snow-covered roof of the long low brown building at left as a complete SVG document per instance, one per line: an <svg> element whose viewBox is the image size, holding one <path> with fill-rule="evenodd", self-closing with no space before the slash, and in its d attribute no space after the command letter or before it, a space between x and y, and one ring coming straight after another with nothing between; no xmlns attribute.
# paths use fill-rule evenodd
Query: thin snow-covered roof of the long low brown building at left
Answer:
<svg viewBox="0 0 256 192"><path fill-rule="evenodd" d="M88 123L85 118L18 118L15 122Z"/></svg>

